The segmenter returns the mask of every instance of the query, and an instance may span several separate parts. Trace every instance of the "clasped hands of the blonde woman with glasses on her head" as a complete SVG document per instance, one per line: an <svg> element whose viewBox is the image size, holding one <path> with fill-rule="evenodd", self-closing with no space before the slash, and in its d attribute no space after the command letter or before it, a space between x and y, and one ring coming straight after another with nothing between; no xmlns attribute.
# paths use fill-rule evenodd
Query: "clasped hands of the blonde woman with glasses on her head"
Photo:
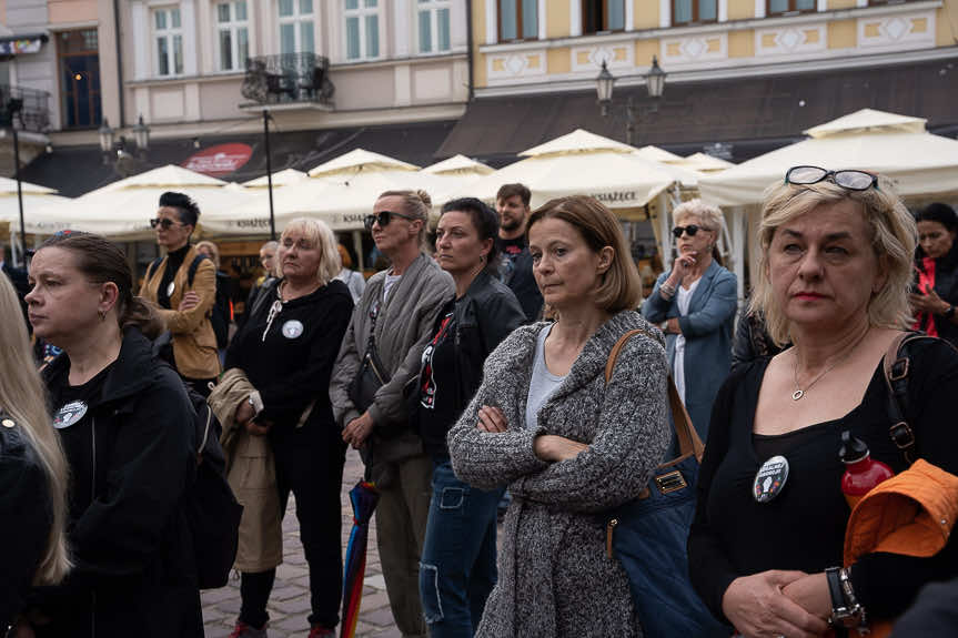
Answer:
<svg viewBox="0 0 958 638"><path fill-rule="evenodd" d="M722 610L747 638L821 636L828 624L783 593L784 587L806 576L803 571L773 569L736 578L722 597Z"/></svg>

